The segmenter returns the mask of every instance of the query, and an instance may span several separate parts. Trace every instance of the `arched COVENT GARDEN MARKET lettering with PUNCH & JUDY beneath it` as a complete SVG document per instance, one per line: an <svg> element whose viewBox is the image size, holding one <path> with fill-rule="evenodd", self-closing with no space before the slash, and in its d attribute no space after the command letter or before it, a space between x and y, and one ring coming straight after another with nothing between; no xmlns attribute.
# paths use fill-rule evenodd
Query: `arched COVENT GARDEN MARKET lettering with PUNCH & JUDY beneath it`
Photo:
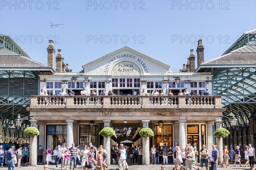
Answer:
<svg viewBox="0 0 256 170"><path fill-rule="evenodd" d="M116 59L121 59L121 58L131 58L131 59L134 59L136 62L140 63L140 65L143 67L143 70L145 71L145 73L148 73L148 68L147 68L145 62L143 62L143 60L140 59L139 57L134 56L132 54L122 54L122 55L118 55L116 57L113 57L105 65L104 72L107 73L109 68L110 68L111 63L116 61ZM120 65L120 67L121 67L121 65ZM133 71L131 66L127 66L127 67L128 68L123 67L123 69L120 68L120 70L118 70L118 71L122 71L122 72L132 72Z"/></svg>

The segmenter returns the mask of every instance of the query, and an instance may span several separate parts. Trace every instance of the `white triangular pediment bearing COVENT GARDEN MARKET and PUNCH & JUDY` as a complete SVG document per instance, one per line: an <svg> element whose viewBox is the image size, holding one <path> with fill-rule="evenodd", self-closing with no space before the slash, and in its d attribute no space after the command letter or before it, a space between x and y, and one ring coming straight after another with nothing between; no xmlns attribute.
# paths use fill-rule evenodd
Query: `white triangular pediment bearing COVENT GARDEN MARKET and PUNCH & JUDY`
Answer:
<svg viewBox="0 0 256 170"><path fill-rule="evenodd" d="M163 62L127 46L82 66L84 73L102 72L105 75L165 75L170 68Z"/></svg>

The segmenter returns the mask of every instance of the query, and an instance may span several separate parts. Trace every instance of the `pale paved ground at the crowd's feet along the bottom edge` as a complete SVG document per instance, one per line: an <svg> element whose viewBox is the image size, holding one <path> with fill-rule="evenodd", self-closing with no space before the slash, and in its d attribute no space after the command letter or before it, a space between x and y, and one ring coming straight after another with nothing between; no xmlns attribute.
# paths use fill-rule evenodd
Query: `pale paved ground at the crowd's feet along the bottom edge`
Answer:
<svg viewBox="0 0 256 170"><path fill-rule="evenodd" d="M50 165L49 166L49 170L60 170L60 168L55 169L54 165ZM172 168L174 167L174 165L166 165L166 170L172 170ZM115 170L117 168L117 165L110 165L108 166L108 170ZM15 168L15 170L44 170L42 165L38 165L36 167L19 167L19 168ZM130 165L129 166L129 170L160 170L160 164L158 165ZM203 170L205 170L206 168L204 167ZM226 168L226 167L219 167L218 170L250 170L250 167L234 167L233 165L230 165L230 168ZM8 170L7 167L0 167L0 170ZM68 169L70 170L70 169ZM77 167L77 170L83 170L83 168L81 166Z"/></svg>

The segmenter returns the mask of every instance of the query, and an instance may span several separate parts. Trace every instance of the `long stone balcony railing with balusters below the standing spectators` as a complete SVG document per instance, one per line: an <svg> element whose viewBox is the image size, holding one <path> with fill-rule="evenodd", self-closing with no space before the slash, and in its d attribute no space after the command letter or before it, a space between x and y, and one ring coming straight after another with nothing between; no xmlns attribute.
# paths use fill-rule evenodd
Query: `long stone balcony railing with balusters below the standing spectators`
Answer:
<svg viewBox="0 0 256 170"><path fill-rule="evenodd" d="M36 107L39 106L39 107ZM221 108L221 96L31 96L30 108ZM63 107L61 107L63 106ZM125 107L125 108L127 108ZM48 107L44 107L48 108Z"/></svg>

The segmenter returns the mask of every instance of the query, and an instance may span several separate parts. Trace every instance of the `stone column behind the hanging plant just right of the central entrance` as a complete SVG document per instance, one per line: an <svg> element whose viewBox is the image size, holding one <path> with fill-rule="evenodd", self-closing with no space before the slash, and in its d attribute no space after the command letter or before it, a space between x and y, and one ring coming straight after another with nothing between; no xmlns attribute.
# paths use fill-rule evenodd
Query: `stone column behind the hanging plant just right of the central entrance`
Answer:
<svg viewBox="0 0 256 170"><path fill-rule="evenodd" d="M143 127L148 127L148 122L150 120L142 120ZM143 144L143 150L142 150L142 164L149 165L149 138L148 137L142 137L142 144Z"/></svg>

